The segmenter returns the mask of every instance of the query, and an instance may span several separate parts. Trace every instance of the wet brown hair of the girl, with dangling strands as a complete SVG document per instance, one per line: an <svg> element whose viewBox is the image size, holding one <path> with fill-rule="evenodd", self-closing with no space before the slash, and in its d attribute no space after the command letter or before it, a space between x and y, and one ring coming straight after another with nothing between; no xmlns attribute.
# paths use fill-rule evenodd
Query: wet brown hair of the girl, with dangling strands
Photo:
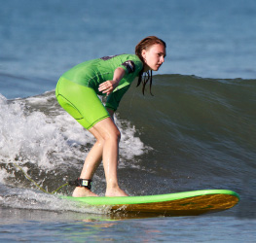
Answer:
<svg viewBox="0 0 256 243"><path fill-rule="evenodd" d="M143 62L143 64L145 64L145 61L144 61L144 58L141 55L142 50L147 50L148 48L150 48L151 46L153 46L155 44L161 44L166 48L165 42L163 40L159 39L156 36L148 36L148 37L144 38L135 47L135 54L140 58L140 60ZM153 95L152 92L151 92L152 70L149 70L149 71L145 72L145 75L143 75L143 74L144 74L144 72L143 72L143 69L142 69L141 72L139 73L139 76L138 76L137 87L142 82L142 93L144 95L145 87L146 87L148 81L150 81L150 83L149 83L150 84L150 93L151 93L151 95Z"/></svg>

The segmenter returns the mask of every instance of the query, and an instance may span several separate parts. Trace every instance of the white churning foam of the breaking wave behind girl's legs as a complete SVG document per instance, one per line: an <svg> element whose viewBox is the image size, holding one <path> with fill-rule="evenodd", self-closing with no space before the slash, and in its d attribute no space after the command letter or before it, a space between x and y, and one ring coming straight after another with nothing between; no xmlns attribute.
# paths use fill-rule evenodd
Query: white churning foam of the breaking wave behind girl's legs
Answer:
<svg viewBox="0 0 256 243"><path fill-rule="evenodd" d="M53 96L53 95L52 95ZM51 95L26 99L27 109L22 100L8 102L0 96L0 159L1 161L29 161L41 168L54 170L59 164L72 161L81 166L94 143L94 137L60 107L55 116L46 116L39 109L30 109L29 104L43 104L53 98ZM31 102L31 103L30 103ZM38 111L36 111L38 110ZM128 121L118 117L116 123L121 130L121 160L132 160L150 148L145 146L136 129ZM125 163L121 163L121 166ZM130 166L130 162L129 162Z"/></svg>

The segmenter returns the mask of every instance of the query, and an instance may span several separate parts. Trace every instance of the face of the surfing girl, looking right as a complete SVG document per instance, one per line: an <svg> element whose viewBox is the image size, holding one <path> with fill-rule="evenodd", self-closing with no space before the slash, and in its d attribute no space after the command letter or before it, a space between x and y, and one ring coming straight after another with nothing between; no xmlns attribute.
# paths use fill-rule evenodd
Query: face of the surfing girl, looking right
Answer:
<svg viewBox="0 0 256 243"><path fill-rule="evenodd" d="M141 54L145 61L144 71L158 71L165 62L165 47L162 44L154 44L147 50L142 50Z"/></svg>

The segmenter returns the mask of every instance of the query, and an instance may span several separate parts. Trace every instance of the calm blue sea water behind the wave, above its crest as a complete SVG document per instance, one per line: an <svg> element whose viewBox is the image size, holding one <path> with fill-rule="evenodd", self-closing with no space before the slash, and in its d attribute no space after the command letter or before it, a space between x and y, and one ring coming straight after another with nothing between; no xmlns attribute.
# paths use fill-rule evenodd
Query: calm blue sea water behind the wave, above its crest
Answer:
<svg viewBox="0 0 256 243"><path fill-rule="evenodd" d="M11 0L0 14L1 83L25 86L14 94L1 86L8 97L53 89L74 64L134 52L148 35L167 43L162 74L232 79L256 74L253 0Z"/></svg>

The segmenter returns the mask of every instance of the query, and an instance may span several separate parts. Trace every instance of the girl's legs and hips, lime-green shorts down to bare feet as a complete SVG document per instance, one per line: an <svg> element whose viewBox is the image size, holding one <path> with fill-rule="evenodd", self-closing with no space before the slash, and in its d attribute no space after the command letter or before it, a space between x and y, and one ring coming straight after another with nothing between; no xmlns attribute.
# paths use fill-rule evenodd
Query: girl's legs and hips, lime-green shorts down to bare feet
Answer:
<svg viewBox="0 0 256 243"><path fill-rule="evenodd" d="M103 157L107 181L106 195L127 195L118 186L117 166L120 132L109 117L111 113L106 111L91 87L83 87L60 78L55 92L62 108L85 128L88 129L88 127L91 127L91 123L98 121L89 129L97 141L87 156L81 173L81 179L91 179ZM76 188L73 195L89 196L96 194L83 187Z"/></svg>

